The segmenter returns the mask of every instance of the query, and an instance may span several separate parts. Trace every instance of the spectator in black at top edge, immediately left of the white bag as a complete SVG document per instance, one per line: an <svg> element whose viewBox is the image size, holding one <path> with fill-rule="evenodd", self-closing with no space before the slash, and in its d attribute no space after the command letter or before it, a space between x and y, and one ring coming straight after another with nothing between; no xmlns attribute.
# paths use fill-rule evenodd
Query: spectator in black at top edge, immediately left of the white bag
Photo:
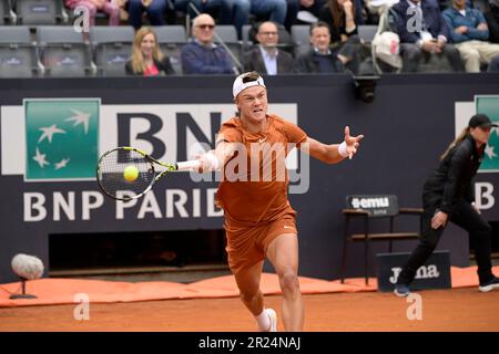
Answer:
<svg viewBox="0 0 499 354"><path fill-rule="evenodd" d="M357 35L357 27L364 23L361 8L358 1L328 0L320 11L320 20L329 25L333 52L345 69L357 74L363 58L370 56L370 51L363 45Z"/></svg>

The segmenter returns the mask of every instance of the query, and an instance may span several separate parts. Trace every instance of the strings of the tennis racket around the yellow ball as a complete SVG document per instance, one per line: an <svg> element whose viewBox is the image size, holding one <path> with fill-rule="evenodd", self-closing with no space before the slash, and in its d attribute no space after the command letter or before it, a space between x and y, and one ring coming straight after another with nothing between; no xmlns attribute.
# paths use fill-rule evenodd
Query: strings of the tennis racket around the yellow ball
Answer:
<svg viewBox="0 0 499 354"><path fill-rule="evenodd" d="M139 171L134 180L126 180L124 176L124 169L130 166ZM99 163L99 185L113 198L128 200L141 195L151 186L154 177L151 162L135 150L114 149Z"/></svg>

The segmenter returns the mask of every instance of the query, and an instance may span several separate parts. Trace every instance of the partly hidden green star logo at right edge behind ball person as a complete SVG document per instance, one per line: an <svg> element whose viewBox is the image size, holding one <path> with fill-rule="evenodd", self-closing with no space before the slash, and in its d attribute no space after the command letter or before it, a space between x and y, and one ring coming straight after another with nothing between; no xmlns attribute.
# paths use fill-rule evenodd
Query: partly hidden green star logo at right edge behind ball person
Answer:
<svg viewBox="0 0 499 354"><path fill-rule="evenodd" d="M487 114L493 123L499 124L498 95L477 95L475 96L475 104L477 113ZM480 171L499 171L499 128L492 128L490 133Z"/></svg>

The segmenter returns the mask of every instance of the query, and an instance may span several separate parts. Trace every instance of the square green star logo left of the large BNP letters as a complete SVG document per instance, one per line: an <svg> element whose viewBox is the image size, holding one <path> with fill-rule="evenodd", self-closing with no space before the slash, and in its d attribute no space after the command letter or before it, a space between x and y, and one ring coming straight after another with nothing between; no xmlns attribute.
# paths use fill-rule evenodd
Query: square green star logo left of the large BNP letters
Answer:
<svg viewBox="0 0 499 354"><path fill-rule="evenodd" d="M26 179L94 178L99 108L99 98L24 100Z"/></svg>

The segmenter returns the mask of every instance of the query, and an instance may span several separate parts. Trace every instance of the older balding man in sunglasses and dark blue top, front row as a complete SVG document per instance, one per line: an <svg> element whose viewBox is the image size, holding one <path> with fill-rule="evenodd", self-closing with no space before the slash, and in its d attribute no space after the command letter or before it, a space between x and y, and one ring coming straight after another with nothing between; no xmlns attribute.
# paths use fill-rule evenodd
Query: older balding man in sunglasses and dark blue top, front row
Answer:
<svg viewBox="0 0 499 354"><path fill-rule="evenodd" d="M207 13L194 19L191 39L182 48L181 60L184 74L234 74L237 69L228 53L213 43L215 20Z"/></svg>

